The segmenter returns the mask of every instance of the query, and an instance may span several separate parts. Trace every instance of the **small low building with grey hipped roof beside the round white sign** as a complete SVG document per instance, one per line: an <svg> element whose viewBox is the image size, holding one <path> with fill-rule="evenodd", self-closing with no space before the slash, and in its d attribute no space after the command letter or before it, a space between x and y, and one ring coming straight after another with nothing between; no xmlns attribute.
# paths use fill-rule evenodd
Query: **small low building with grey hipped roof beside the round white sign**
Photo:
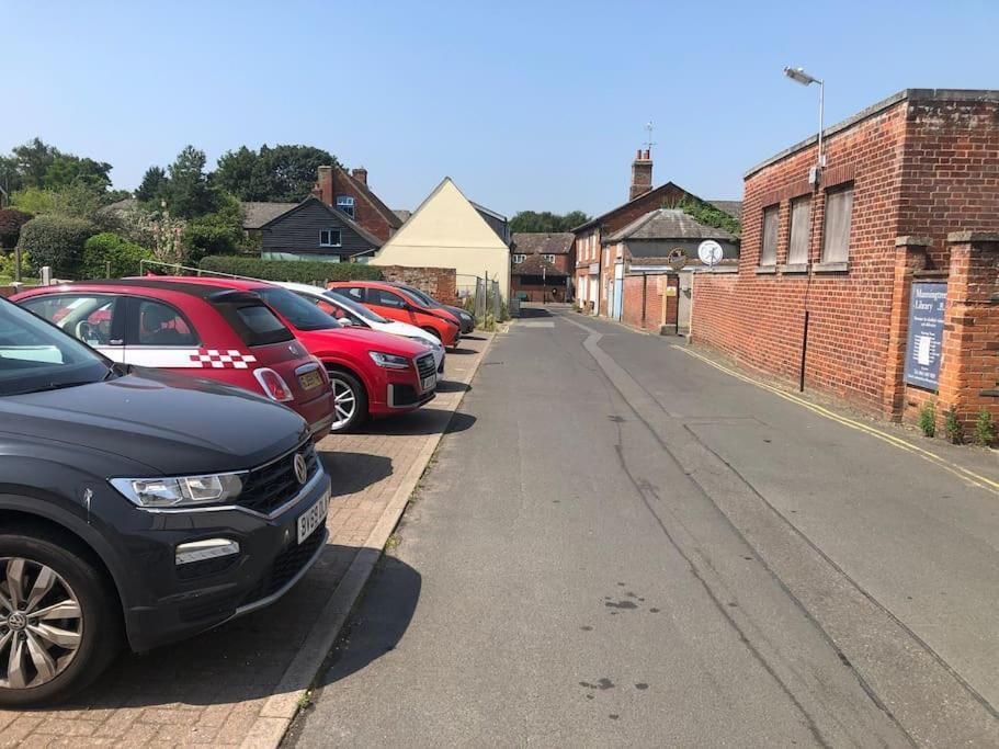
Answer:
<svg viewBox="0 0 999 749"><path fill-rule="evenodd" d="M676 274L678 307L676 325L678 332L690 328L690 299L692 274L701 268L697 256L701 242L714 240L722 247L722 263L734 263L739 258L739 238L734 234L696 222L680 208L656 208L639 216L623 229L601 240L601 247L615 264L614 277L626 279L634 273ZM688 258L682 269L674 269L670 256L682 252ZM617 265L622 272L617 273ZM617 292L616 284L610 288L608 304L610 317L622 319L625 314L625 294ZM671 319L672 321L672 319ZM643 326L644 327L644 326Z"/></svg>

